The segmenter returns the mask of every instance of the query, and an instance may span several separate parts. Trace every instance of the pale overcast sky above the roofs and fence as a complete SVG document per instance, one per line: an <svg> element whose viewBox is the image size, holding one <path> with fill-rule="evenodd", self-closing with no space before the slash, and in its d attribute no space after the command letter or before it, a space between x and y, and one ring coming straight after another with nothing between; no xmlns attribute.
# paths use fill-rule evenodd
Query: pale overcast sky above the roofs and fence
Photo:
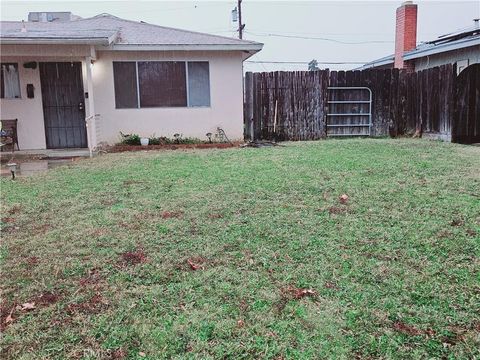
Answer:
<svg viewBox="0 0 480 360"><path fill-rule="evenodd" d="M417 42L473 25L480 1L416 1ZM395 9L401 1L243 0L244 38L264 43L250 61L368 62L393 53ZM29 11L110 13L152 24L236 36L236 1L1 1L2 20L26 20ZM317 38L302 39L299 37ZM321 39L318 39L321 38ZM323 40L322 40L323 39ZM349 44L345 44L349 43ZM321 64L351 69L355 64ZM302 70L306 64L245 63L249 71Z"/></svg>

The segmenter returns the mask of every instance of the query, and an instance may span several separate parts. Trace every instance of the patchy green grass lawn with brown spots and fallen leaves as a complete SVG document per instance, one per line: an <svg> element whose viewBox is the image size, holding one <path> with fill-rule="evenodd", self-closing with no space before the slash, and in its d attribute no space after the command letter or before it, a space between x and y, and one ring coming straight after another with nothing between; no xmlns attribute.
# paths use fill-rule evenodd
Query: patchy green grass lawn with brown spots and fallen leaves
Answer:
<svg viewBox="0 0 480 360"><path fill-rule="evenodd" d="M478 147L108 154L1 205L5 359L480 357Z"/></svg>

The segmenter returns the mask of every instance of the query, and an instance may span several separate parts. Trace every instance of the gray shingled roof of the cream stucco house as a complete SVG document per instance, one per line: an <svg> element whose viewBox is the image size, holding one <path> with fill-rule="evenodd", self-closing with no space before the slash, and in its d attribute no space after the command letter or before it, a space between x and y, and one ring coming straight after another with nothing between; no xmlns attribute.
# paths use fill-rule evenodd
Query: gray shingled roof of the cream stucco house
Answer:
<svg viewBox="0 0 480 360"><path fill-rule="evenodd" d="M2 21L2 43L66 43L119 46L203 46L226 50L260 50L262 44L187 30L147 24L100 14L87 19L61 22ZM88 41L90 40L90 42Z"/></svg>

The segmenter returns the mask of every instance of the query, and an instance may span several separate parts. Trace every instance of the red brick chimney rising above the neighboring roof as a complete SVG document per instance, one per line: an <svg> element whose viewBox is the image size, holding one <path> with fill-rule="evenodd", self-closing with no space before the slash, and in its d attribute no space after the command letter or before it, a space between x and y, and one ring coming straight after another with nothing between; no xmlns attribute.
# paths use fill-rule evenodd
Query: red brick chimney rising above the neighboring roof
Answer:
<svg viewBox="0 0 480 360"><path fill-rule="evenodd" d="M403 61L403 54L417 46L417 5L405 1L397 9L395 29L395 68L414 71L414 65Z"/></svg>

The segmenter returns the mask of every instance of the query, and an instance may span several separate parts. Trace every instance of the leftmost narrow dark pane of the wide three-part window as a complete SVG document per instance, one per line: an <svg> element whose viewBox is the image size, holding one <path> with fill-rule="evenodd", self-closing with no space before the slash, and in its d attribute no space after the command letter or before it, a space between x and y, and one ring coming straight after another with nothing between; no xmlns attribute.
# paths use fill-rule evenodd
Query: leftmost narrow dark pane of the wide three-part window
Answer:
<svg viewBox="0 0 480 360"><path fill-rule="evenodd" d="M137 108L137 64L135 62L114 62L113 81L116 108Z"/></svg>

